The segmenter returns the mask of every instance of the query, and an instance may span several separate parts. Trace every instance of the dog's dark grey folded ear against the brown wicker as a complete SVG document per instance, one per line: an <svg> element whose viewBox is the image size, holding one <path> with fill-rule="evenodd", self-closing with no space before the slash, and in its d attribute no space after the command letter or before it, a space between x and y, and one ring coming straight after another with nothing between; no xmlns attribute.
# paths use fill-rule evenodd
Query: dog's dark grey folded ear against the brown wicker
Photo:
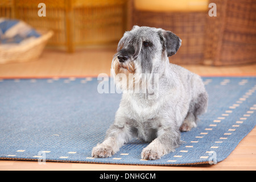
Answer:
<svg viewBox="0 0 256 182"><path fill-rule="evenodd" d="M166 50L167 56L170 57L172 55L175 55L175 53L181 46L181 39L171 31L165 30L161 30L159 32L159 36L163 46L163 51Z"/></svg>

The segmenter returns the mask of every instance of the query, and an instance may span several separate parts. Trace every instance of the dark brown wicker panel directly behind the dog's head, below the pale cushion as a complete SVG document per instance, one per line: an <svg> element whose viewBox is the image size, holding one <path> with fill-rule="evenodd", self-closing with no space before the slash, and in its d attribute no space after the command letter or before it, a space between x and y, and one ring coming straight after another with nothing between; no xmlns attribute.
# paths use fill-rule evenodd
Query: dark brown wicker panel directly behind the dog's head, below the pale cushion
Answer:
<svg viewBox="0 0 256 182"><path fill-rule="evenodd" d="M175 64L201 64L204 60L204 31L206 11L155 12L137 10L131 3L132 24L163 28L174 32L182 46L171 62Z"/></svg>

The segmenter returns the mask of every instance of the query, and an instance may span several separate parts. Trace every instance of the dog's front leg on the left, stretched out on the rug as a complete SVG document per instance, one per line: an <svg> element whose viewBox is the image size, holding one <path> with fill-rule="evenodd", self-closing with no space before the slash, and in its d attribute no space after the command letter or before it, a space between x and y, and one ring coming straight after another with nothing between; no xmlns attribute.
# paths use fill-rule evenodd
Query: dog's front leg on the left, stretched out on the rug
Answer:
<svg viewBox="0 0 256 182"><path fill-rule="evenodd" d="M119 151L119 148L131 138L127 125L112 125L109 127L104 142L97 144L92 150L93 158L108 158Z"/></svg>

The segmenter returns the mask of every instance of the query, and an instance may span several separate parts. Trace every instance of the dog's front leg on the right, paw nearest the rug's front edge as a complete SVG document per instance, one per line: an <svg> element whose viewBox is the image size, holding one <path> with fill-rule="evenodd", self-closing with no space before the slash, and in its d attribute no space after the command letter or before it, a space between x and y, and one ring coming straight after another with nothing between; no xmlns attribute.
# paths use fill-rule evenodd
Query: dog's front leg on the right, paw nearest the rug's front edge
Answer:
<svg viewBox="0 0 256 182"><path fill-rule="evenodd" d="M180 144L179 129L160 129L158 137L154 139L141 153L142 159L156 160L161 156L174 152Z"/></svg>

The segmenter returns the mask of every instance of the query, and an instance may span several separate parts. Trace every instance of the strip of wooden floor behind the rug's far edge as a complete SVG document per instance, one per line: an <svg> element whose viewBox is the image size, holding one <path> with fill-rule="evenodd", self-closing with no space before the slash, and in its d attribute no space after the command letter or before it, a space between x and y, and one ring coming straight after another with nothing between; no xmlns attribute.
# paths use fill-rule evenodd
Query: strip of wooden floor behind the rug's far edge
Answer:
<svg viewBox="0 0 256 182"><path fill-rule="evenodd" d="M37 61L22 64L0 64L0 78L8 77L66 77L66 76L98 76L99 73L110 75L110 67L114 48L83 49L69 54L63 51L45 50ZM256 76L256 63L231 66L211 67L201 65L182 65L201 76Z"/></svg>

